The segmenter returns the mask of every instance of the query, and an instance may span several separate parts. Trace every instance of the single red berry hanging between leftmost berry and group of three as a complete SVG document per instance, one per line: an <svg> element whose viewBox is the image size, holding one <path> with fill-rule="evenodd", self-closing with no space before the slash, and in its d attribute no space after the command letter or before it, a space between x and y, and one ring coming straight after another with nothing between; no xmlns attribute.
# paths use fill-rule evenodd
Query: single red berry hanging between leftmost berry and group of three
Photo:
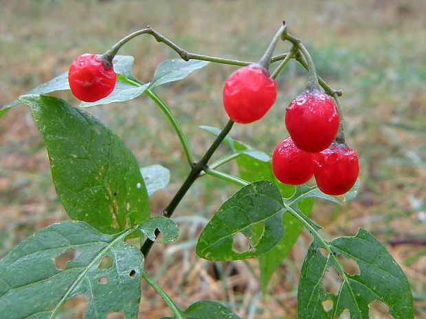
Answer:
<svg viewBox="0 0 426 319"><path fill-rule="evenodd" d="M261 119L277 96L277 84L259 64L250 64L232 73L223 87L223 105L237 123Z"/></svg>

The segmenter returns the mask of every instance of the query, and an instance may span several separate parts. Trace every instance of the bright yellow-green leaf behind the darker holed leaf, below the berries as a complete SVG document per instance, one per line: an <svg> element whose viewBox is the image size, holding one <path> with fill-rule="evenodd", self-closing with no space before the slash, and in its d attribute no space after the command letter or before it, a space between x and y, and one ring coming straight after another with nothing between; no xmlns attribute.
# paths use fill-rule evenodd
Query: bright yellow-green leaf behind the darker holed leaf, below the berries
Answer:
<svg viewBox="0 0 426 319"><path fill-rule="evenodd" d="M289 198L295 193L295 186L285 185L280 182L272 172L271 160L264 162L258 158L250 156L250 154L241 154L237 158L238 169L240 177L248 180L249 182L255 180L271 180L280 189L281 196ZM300 200L298 207L304 215L309 216L313 204L312 198L305 198ZM282 239L273 246L271 250L265 252L258 257L259 270L260 270L260 285L263 294L266 293L267 284L273 272L280 266L282 259L289 253L291 247L298 239L303 225L298 222L297 218L289 213L282 215L282 222L284 224L284 236Z"/></svg>

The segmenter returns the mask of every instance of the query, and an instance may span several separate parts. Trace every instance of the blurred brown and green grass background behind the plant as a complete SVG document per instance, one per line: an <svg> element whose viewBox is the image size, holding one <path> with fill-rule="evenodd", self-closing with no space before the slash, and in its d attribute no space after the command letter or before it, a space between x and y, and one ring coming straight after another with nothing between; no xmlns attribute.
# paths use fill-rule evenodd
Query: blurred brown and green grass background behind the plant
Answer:
<svg viewBox="0 0 426 319"><path fill-rule="evenodd" d="M371 231L410 279L416 318L426 318L426 2L347 1L166 1L0 0L0 105L67 71L76 56L102 53L122 36L152 25L188 51L256 61L284 19L311 51L317 72L342 89L346 141L359 154L361 190L341 207L315 201L313 220L324 237ZM276 53L289 45L280 43ZM120 54L135 56L136 78L148 82L157 65L177 58L150 36L137 38ZM275 64L272 67L276 67ZM222 127L223 82L236 67L210 64L186 80L157 89L181 121L194 153L212 137L200 125ZM262 121L236 125L232 137L272 152L287 137L284 108L306 85L306 72L292 61L277 79L275 106ZM69 93L56 93L74 105ZM147 97L89 110L133 150L141 166L160 163L171 183L151 205L157 214L188 173L168 122ZM220 153L225 154L226 147ZM0 119L0 257L38 229L67 220L56 198L47 152L25 106ZM229 164L224 169L236 172ZM311 182L312 183L312 182ZM156 246L146 261L177 304L221 300L243 318L297 318L300 266L311 237L303 233L271 280L273 295L262 298L254 261L208 263L194 256L197 232L236 188L206 176L175 213L177 243ZM197 216L197 217L194 217ZM330 282L338 287L337 279ZM141 318L170 314L144 283ZM82 318L85 300L67 303L61 318ZM371 318L390 318L375 303ZM111 314L109 319L121 318ZM342 316L341 318L348 318Z"/></svg>

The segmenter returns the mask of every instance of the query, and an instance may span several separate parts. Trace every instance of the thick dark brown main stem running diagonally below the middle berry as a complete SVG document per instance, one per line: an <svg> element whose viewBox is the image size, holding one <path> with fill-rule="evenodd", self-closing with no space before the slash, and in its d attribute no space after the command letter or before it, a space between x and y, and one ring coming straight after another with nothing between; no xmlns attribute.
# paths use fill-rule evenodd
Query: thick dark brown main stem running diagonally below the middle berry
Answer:
<svg viewBox="0 0 426 319"><path fill-rule="evenodd" d="M210 161L210 158L216 151L217 147L221 145L223 139L225 139L229 131L232 129L233 125L234 125L234 121L229 120L227 124L225 125L225 127L223 128L223 130L221 130L220 134L218 134L216 139L213 141L212 145L210 145L207 152L205 152L201 160L198 163L192 164L192 169L190 171L190 174L188 174L188 176L186 177L186 180L183 182L183 184L181 185L181 187L179 188L175 196L172 198L172 200L170 200L170 202L168 203L164 211L161 213L161 215L168 218L172 216L177 205L179 204L179 202L181 202L183 196L185 196L186 192L190 189L194 181L199 177L200 173L203 170L206 170L208 168L207 166L208 161ZM155 235L158 236L158 234L159 234L159 231L156 230ZM142 245L140 250L145 257L146 255L148 255L150 248L153 246L153 244L154 244L154 241L148 238Z"/></svg>

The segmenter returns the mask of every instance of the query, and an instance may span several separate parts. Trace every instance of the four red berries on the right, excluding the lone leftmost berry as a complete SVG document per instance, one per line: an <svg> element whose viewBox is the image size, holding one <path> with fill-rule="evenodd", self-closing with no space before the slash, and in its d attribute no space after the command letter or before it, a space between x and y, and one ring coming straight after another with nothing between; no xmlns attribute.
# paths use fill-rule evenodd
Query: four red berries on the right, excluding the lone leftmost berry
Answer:
<svg viewBox="0 0 426 319"><path fill-rule="evenodd" d="M227 115L238 123L260 119L275 102L276 90L267 69L259 64L238 69L223 88ZM272 155L278 180L300 185L315 176L318 188L329 195L352 188L359 173L358 157L346 143L335 141L339 113L328 95L317 88L306 89L287 108L285 125L290 137Z"/></svg>

